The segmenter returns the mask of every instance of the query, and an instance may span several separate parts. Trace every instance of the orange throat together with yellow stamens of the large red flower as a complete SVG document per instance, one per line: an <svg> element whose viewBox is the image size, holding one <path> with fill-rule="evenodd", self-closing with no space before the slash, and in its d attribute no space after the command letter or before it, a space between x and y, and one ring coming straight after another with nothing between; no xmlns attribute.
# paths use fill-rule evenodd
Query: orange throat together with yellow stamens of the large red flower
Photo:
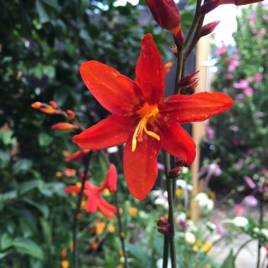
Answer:
<svg viewBox="0 0 268 268"><path fill-rule="evenodd" d="M158 109L155 106L150 106L149 104L145 104L145 106L142 107L138 111L138 114L141 116L140 122L135 128L135 132L133 134L133 139L132 139L132 148L131 151L135 152L135 149L137 147L137 141L142 142L143 138L143 131L147 134L150 135L152 138L156 140L160 140L159 135L157 133L154 133L150 130L147 130L147 122L152 116L156 116L158 114Z"/></svg>

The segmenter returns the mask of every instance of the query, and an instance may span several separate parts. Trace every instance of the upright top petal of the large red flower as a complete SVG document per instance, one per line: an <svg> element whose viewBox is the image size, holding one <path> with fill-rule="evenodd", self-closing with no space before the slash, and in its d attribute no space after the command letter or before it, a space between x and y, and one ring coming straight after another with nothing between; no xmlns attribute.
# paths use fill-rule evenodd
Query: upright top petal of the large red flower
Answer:
<svg viewBox="0 0 268 268"><path fill-rule="evenodd" d="M145 35L136 67L135 83L149 104L157 104L164 98L164 76L164 65L154 39L150 34Z"/></svg>

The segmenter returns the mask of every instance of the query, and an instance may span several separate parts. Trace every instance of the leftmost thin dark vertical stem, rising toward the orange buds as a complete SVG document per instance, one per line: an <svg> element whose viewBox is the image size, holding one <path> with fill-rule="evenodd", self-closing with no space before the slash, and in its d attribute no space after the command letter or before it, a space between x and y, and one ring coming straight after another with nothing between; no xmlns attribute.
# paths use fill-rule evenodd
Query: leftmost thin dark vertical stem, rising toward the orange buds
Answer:
<svg viewBox="0 0 268 268"><path fill-rule="evenodd" d="M90 166L90 157L91 154L85 156L85 171L84 176L81 181L81 189L78 194L78 201L76 203L75 213L73 215L73 267L78 268L78 241L77 241L77 232L78 232L78 214L80 213L81 202L83 199L83 193L85 189L85 181L87 180L87 173Z"/></svg>

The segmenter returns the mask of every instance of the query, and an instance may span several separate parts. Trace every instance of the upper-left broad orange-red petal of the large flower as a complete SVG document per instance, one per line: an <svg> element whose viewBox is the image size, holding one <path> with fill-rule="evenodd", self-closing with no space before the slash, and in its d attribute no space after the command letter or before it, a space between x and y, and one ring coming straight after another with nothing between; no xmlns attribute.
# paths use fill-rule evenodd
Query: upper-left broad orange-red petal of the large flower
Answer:
<svg viewBox="0 0 268 268"><path fill-rule="evenodd" d="M142 106L142 92L125 75L98 61L80 65L85 85L97 101L113 114L131 114Z"/></svg>

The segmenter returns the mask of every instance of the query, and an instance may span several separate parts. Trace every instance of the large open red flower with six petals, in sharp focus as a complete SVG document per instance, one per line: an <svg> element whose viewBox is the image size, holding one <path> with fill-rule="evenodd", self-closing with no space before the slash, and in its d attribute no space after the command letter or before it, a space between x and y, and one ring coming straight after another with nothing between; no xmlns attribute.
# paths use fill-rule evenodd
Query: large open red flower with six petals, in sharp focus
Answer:
<svg viewBox="0 0 268 268"><path fill-rule="evenodd" d="M135 82L98 61L81 64L92 95L112 113L73 141L85 149L104 149L126 142L123 169L132 195L144 199L157 178L157 156L166 152L190 165L195 143L180 123L204 121L228 110L233 101L222 93L172 95L164 100L165 69L152 35L142 39Z"/></svg>

